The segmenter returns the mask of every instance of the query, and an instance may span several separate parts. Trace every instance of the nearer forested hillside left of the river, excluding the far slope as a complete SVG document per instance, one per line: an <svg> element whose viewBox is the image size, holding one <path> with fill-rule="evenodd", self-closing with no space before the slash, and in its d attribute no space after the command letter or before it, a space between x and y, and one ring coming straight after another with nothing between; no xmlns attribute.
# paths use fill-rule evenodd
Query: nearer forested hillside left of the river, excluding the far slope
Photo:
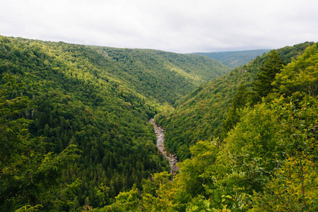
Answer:
<svg viewBox="0 0 318 212"><path fill-rule="evenodd" d="M52 178L58 172L61 177L52 181L57 181L52 189L69 188L62 189L65 192L61 193L45 193L49 188L42 189L45 194L42 199L47 200L47 205L41 203L42 206L53 208L55 199L59 204L54 207L59 211L79 208L86 204L86 199L90 206L104 206L134 183L141 187L141 179L152 172L169 169L155 148L153 128L148 124L148 118L155 114L156 104L93 64L93 58L88 56L96 54L99 58L96 52L81 45L8 37L1 37L0 45L0 72L16 78L18 85L24 83L23 87L11 86L10 89L5 88L6 78L0 83L1 92L6 92L5 97L1 94L4 105L1 107L4 112L1 139L10 141L8 145L1 141L1 161L13 160L10 164L3 163L1 168L11 167L12 174L8 175L11 180L14 170L23 170L20 166L25 164L24 160L33 161L35 167L30 167L33 170L30 173L38 175L39 180ZM99 76L95 76L96 71ZM2 129L3 126L6 127ZM74 160L73 167L68 170L57 169L64 159L60 157L54 164L54 158L67 155L68 146L73 145L82 151L82 157ZM35 148L39 154L30 148ZM30 154L34 158L29 157ZM40 166L41 172L37 172L42 160L46 166ZM52 175L45 174L49 170L54 170ZM18 178L20 182L30 183L30 189L23 192L31 199L33 197L28 196L33 195L31 186L34 184L23 173ZM76 189L71 192L68 185L76 179L82 183L73 184ZM1 196L12 196L13 187L23 187L19 180L12 182L11 187L9 181L4 182ZM40 181L34 183L34 189L49 186ZM37 196L36 191L34 195ZM100 198L95 198L97 196ZM29 204L33 207L36 202ZM1 206L2 210L10 211L6 205Z"/></svg>

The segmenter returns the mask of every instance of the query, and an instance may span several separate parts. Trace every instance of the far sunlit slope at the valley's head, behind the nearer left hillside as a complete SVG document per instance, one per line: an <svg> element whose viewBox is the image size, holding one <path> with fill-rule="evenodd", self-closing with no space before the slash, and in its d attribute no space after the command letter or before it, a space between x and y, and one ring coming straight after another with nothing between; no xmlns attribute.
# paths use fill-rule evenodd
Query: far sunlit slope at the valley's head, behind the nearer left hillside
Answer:
<svg viewBox="0 0 318 212"><path fill-rule="evenodd" d="M54 48L54 43L49 48ZM214 59L151 49L117 49L59 43L72 57L86 57L96 77L114 78L158 102L174 103L230 68ZM89 70L88 70L89 71Z"/></svg>

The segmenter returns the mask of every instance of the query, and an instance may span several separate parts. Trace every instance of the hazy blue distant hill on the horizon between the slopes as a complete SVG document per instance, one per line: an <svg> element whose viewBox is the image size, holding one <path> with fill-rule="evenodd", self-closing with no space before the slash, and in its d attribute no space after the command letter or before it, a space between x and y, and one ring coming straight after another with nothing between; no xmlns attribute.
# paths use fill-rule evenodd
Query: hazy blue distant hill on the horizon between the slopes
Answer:
<svg viewBox="0 0 318 212"><path fill-rule="evenodd" d="M226 66L237 68L269 51L269 49L257 49L237 52L196 52L192 54L205 55L222 62Z"/></svg>

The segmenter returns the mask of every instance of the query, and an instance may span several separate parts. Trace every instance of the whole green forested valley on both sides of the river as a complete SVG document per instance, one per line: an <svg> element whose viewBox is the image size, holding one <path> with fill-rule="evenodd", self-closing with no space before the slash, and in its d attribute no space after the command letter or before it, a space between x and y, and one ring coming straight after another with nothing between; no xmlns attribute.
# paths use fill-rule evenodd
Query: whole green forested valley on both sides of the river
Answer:
<svg viewBox="0 0 318 212"><path fill-rule="evenodd" d="M0 211L318 211L314 42L231 71L193 54L0 39Z"/></svg>

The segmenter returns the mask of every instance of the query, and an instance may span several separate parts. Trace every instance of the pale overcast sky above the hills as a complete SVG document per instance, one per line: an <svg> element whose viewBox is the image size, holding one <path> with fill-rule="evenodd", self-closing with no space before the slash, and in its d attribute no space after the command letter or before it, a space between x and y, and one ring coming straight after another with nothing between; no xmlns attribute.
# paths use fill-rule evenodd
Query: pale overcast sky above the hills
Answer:
<svg viewBox="0 0 318 212"><path fill-rule="evenodd" d="M0 35L223 52L318 42L318 0L1 0Z"/></svg>

